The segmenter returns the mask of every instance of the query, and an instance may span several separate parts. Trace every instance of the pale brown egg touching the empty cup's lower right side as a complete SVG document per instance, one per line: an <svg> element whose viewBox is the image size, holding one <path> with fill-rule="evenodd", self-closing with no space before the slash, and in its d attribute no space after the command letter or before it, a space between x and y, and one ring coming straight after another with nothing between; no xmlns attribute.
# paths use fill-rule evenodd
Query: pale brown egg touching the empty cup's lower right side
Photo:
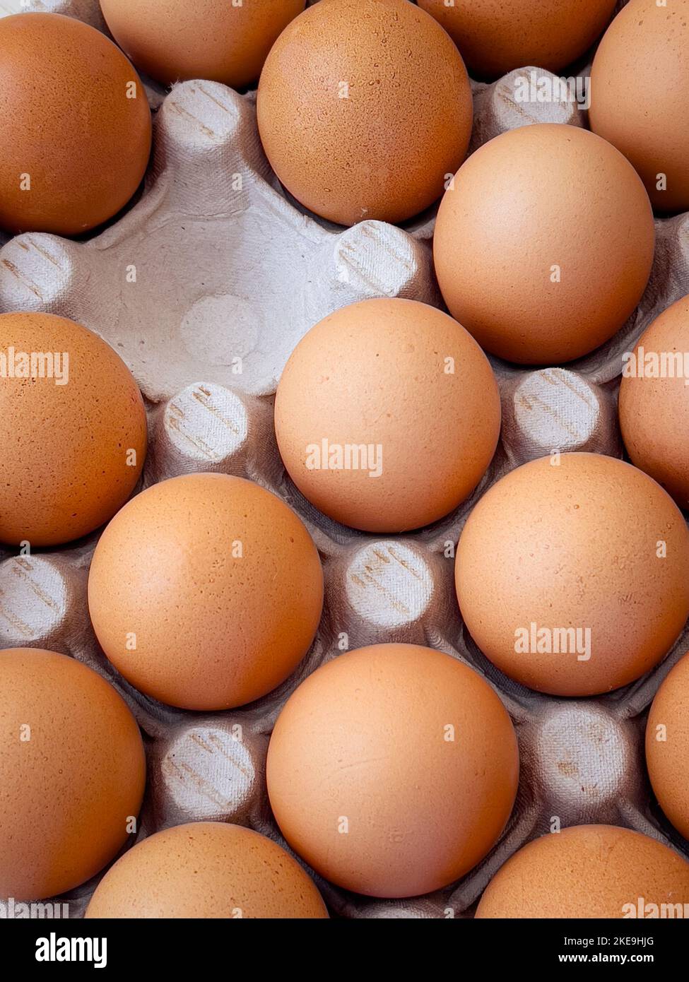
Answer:
<svg viewBox="0 0 689 982"><path fill-rule="evenodd" d="M488 358L447 314L364 300L292 353L275 399L282 459L325 515L399 532L442 518L486 472L500 432Z"/></svg>

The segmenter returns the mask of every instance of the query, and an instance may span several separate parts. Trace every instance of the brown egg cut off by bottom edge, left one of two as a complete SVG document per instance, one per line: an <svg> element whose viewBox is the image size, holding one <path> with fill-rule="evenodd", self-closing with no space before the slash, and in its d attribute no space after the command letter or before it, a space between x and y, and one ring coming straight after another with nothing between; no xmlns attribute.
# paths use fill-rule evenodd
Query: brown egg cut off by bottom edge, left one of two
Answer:
<svg viewBox="0 0 689 982"><path fill-rule="evenodd" d="M240 825L157 832L107 871L86 918L322 918L312 879L282 846Z"/></svg>

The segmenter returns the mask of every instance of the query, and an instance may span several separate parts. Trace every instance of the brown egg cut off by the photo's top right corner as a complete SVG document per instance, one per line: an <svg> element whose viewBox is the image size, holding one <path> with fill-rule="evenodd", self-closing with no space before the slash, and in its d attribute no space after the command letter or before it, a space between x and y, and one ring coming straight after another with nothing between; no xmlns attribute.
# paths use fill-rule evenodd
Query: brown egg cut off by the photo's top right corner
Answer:
<svg viewBox="0 0 689 982"><path fill-rule="evenodd" d="M660 211L689 208L689 0L631 0L596 53L591 129L637 169Z"/></svg>

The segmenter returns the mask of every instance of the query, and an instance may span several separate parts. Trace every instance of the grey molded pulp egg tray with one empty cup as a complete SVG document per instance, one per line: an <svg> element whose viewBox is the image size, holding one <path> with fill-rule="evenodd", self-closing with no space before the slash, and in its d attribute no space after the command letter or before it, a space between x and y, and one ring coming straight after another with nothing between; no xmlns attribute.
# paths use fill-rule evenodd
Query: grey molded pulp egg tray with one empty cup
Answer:
<svg viewBox="0 0 689 982"><path fill-rule="evenodd" d="M97 0L36 0L32 7L105 29ZM0 13L19 8L20 0L0 3ZM473 83L471 150L530 123L585 125L575 103L515 101L515 76L523 72L491 85ZM0 648L70 654L128 701L148 763L140 840L182 822L215 820L249 825L286 845L267 803L268 738L299 682L336 656L341 632L350 648L427 644L482 673L509 710L520 742L520 791L502 839L460 883L416 900L358 897L315 876L334 915L471 916L497 868L547 832L553 816L563 826L628 826L689 856L689 843L653 801L643 752L646 711L689 646L686 630L656 670L624 689L595 699L543 696L508 680L473 643L459 615L448 555L478 498L507 470L553 449L621 456L622 354L661 310L689 293L689 214L657 220L649 287L603 349L566 369L517 369L491 358L503 423L488 474L448 517L414 534L378 538L325 518L299 494L277 453L272 397L297 342L332 310L380 296L441 305L431 261L434 213L404 229L366 221L343 231L316 220L286 197L263 156L255 93L239 95L215 82L183 82L169 94L147 85L147 92L154 152L142 196L89 241L25 234L6 242L0 310L71 317L124 358L148 410L143 486L213 470L249 477L280 495L316 540L326 581L323 617L299 669L258 702L212 714L164 706L125 682L95 641L86 606L95 533L26 557L0 550ZM136 282L129 282L133 269ZM62 899L71 916L83 914L97 879Z"/></svg>

